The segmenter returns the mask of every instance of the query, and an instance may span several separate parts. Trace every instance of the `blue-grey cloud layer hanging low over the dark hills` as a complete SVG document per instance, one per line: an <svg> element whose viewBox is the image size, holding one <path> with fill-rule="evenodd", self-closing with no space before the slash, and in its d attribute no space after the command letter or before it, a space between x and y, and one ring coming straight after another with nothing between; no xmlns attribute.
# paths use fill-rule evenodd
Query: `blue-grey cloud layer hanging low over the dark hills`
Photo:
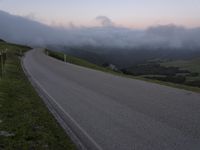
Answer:
<svg viewBox="0 0 200 150"><path fill-rule="evenodd" d="M133 30L117 27L106 16L96 20L101 27L54 28L27 18L0 11L0 38L31 46L97 46L112 48L137 47L155 49L199 49L200 28L186 29L175 25Z"/></svg>

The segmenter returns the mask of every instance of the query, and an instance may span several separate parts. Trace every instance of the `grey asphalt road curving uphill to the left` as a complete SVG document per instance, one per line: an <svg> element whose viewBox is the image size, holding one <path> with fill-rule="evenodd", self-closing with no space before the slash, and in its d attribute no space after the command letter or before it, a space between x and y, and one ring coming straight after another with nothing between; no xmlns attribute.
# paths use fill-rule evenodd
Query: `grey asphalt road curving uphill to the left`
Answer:
<svg viewBox="0 0 200 150"><path fill-rule="evenodd" d="M41 50L24 68L88 149L200 150L200 94L64 63Z"/></svg>

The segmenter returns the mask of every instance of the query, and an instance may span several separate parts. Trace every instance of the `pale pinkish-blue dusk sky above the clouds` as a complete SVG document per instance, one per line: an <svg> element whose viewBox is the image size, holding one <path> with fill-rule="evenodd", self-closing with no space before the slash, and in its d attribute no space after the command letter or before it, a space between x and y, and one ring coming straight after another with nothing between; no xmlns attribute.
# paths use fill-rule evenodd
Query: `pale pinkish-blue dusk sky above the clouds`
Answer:
<svg viewBox="0 0 200 150"><path fill-rule="evenodd" d="M0 0L0 10L57 26L95 26L97 16L130 28L200 26L200 0Z"/></svg>

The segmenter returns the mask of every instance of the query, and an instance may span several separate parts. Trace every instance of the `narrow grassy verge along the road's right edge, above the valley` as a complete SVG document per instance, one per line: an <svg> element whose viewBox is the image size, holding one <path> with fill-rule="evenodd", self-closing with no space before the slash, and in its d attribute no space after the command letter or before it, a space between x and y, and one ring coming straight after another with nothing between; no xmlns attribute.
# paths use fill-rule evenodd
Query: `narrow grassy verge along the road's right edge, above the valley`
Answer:
<svg viewBox="0 0 200 150"><path fill-rule="evenodd" d="M48 51L49 56L64 61L64 54L63 53L55 52L55 51L51 51L51 50L46 50L46 52L47 51ZM122 77L143 80L143 81L147 81L147 82L152 82L152 83L156 83L156 84L171 86L171 87L174 87L174 88L180 88L180 89L185 89L185 90L200 93L200 88L198 88L198 87L187 86L187 85L182 85L182 84L175 84L175 83L164 82L164 81L153 80L153 79L146 79L146 78L143 78L143 77L140 77L140 76L127 75L127 74L124 74L122 72L116 72L116 71L113 71L109 68L105 68L105 67L98 66L96 64L92 64L92 63L85 61L83 59L79 59L79 58L69 56L69 55L66 55L66 56L67 56L66 61L69 62L69 63L72 63L72 64L76 64L76 65L80 65L80 66L83 66L83 67L87 67L87 68L111 73L111 74L122 76Z"/></svg>

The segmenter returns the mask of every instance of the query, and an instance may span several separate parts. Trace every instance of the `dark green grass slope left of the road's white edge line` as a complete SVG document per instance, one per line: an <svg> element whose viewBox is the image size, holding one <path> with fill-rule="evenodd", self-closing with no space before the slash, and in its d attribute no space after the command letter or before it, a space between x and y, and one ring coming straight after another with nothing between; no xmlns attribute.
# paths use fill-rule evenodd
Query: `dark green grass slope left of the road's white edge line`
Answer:
<svg viewBox="0 0 200 150"><path fill-rule="evenodd" d="M7 61L0 78L0 149L76 149L21 68L19 49L25 52L29 48L0 42L0 49L5 48ZM1 135L2 131L11 136Z"/></svg>

